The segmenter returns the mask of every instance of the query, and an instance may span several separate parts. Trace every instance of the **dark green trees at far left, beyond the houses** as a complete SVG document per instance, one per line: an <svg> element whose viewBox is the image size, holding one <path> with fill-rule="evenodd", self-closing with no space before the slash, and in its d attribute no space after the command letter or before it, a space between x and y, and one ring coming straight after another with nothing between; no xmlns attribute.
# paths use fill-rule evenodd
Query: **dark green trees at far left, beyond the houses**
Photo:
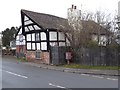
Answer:
<svg viewBox="0 0 120 90"><path fill-rule="evenodd" d="M17 33L15 27L11 27L11 29L7 28L2 32L2 43L3 46L10 46L10 41L14 40L14 35Z"/></svg>

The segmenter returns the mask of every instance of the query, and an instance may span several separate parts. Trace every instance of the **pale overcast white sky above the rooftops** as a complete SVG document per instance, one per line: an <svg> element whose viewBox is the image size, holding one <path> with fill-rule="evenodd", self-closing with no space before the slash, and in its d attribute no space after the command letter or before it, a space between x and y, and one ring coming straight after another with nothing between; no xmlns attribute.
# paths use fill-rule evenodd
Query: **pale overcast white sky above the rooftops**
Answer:
<svg viewBox="0 0 120 90"><path fill-rule="evenodd" d="M20 10L51 14L67 18L67 9L72 4L77 9L95 12L96 10L114 14L118 10L119 0L1 0L0 32L12 26L21 25Z"/></svg>

